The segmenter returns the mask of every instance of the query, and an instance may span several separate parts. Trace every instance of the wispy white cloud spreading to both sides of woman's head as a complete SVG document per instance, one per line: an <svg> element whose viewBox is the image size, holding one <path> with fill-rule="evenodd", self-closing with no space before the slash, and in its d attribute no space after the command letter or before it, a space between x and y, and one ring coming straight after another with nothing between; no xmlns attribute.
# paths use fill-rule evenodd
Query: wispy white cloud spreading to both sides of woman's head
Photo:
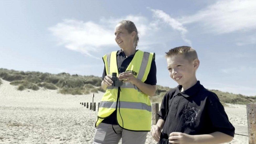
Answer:
<svg viewBox="0 0 256 144"><path fill-rule="evenodd" d="M93 52L99 49L104 50L106 46L117 46L114 40L114 28L121 20L131 20L135 23L139 34L138 46L141 50L149 49L152 45L164 45L173 33L171 30L167 32L168 36L159 33L159 30L162 30L159 25L160 19L148 20L141 15L101 18L99 22L64 19L63 22L50 27L49 30L56 36L58 45L98 58L92 55Z"/></svg>

